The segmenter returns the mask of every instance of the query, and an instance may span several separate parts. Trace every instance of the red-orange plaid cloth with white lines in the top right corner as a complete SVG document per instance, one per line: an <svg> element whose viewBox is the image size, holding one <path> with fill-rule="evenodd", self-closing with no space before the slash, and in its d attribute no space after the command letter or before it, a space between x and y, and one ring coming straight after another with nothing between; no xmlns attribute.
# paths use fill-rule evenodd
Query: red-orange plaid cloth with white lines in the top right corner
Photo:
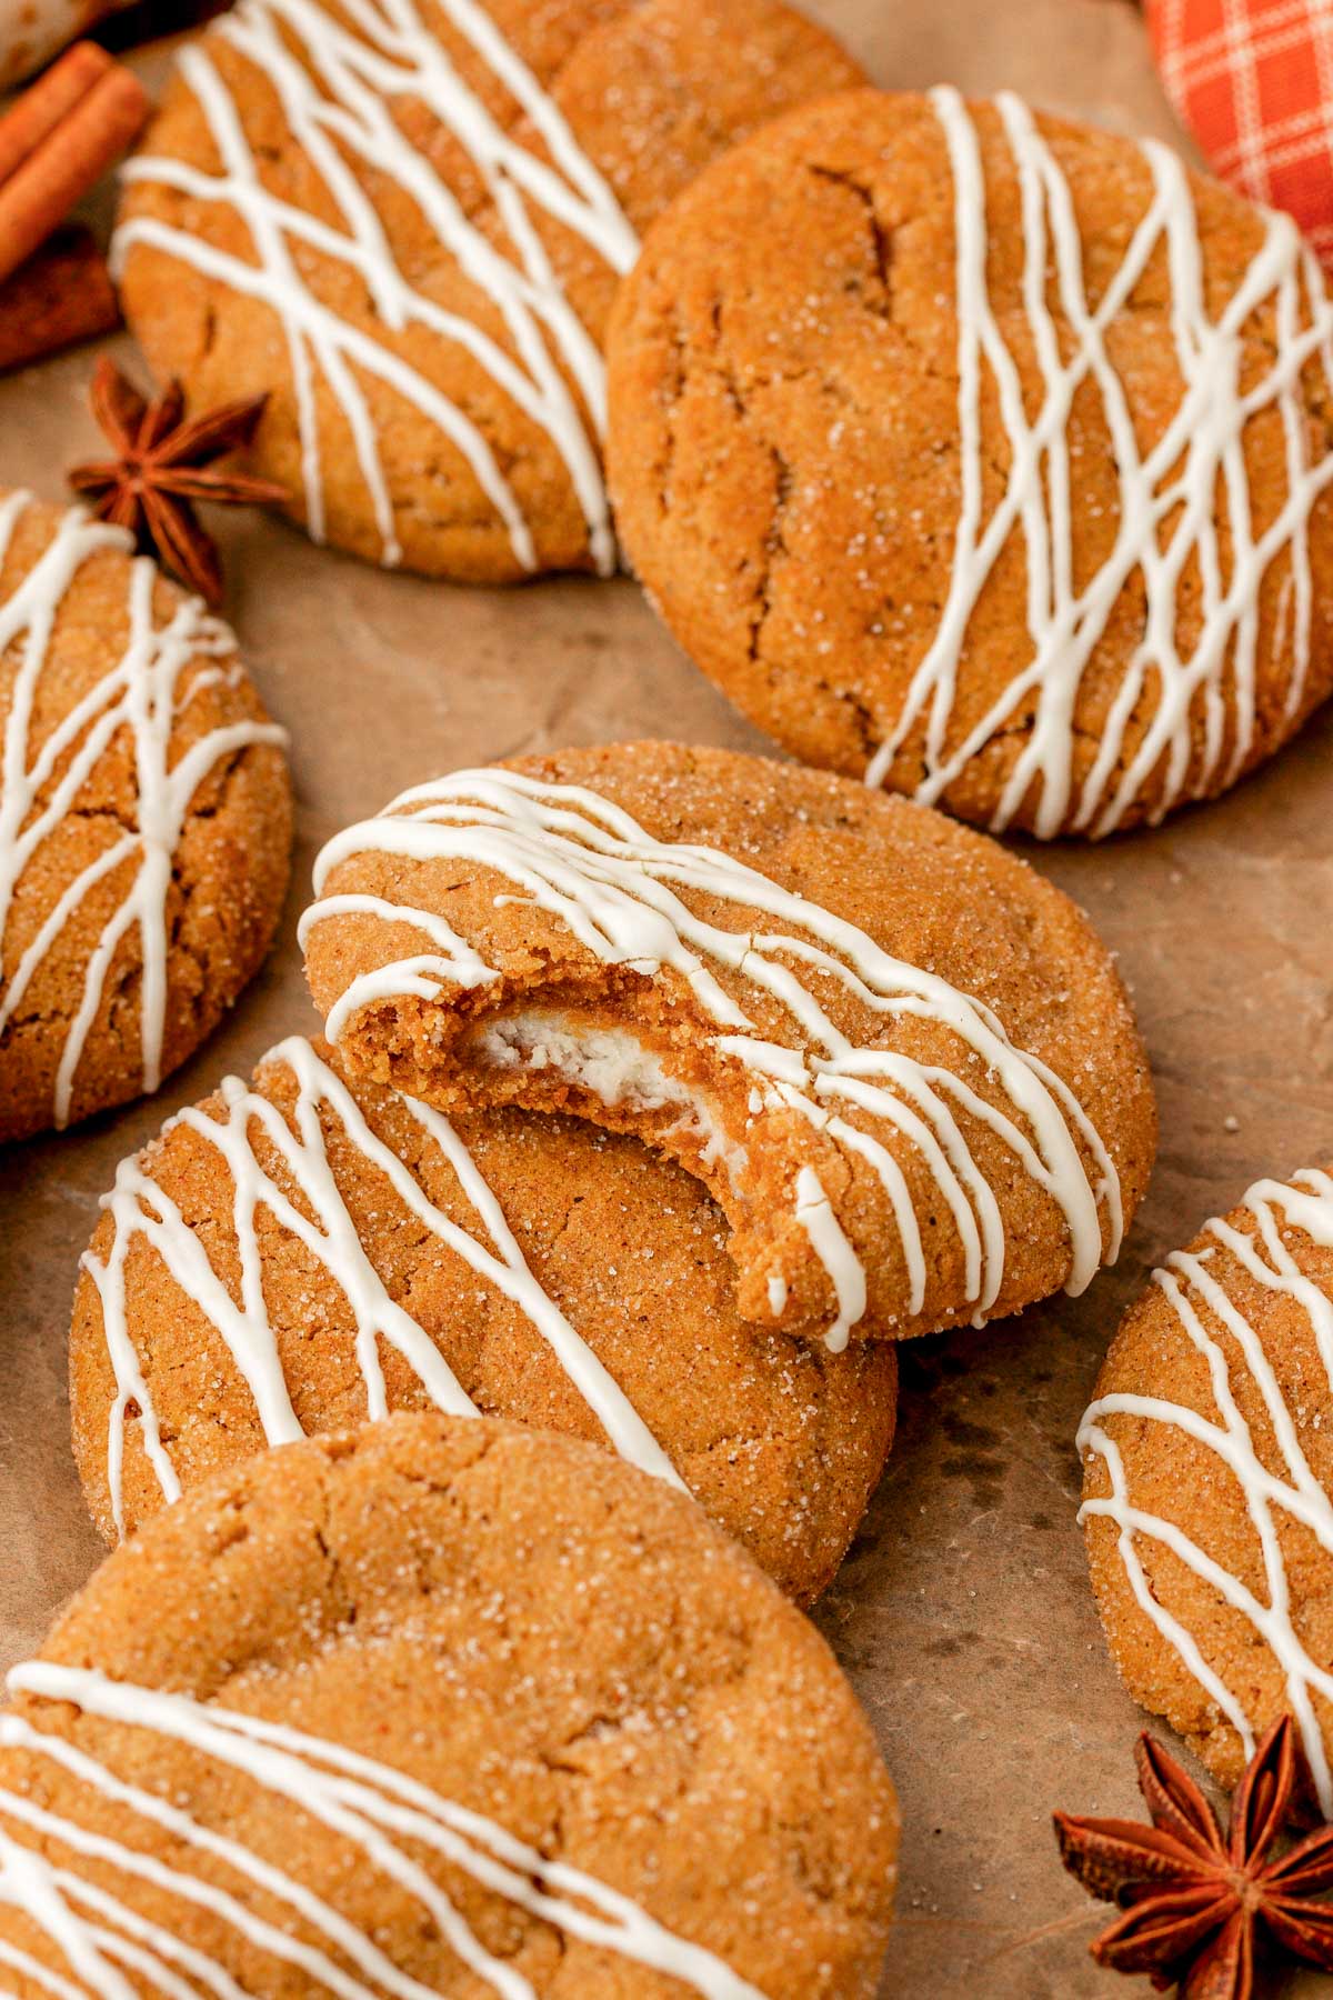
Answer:
<svg viewBox="0 0 1333 2000"><path fill-rule="evenodd" d="M1147 0L1147 24L1213 172L1289 210L1333 268L1333 0Z"/></svg>

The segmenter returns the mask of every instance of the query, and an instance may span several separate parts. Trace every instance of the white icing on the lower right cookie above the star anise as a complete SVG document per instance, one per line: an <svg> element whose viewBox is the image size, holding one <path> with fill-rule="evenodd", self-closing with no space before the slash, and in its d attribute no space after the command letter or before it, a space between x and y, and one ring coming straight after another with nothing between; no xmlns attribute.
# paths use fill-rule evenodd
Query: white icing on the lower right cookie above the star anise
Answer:
<svg viewBox="0 0 1333 2000"><path fill-rule="evenodd" d="M1327 1386L1333 1390L1333 1298L1313 1278L1303 1274L1291 1248L1283 1242L1283 1228L1287 1228L1303 1232L1313 1244L1325 1250L1333 1250L1333 1176L1325 1172L1297 1174L1291 1186L1277 1180L1261 1180L1247 1192L1243 1206L1255 1220L1253 1234L1225 1220L1209 1222L1207 1234L1215 1240L1215 1246L1225 1248L1241 1264L1249 1280L1273 1294L1275 1302L1279 1298L1291 1300L1305 1314L1323 1362ZM1157 1396L1127 1392L1099 1396L1083 1416L1077 1444L1085 1458L1101 1460L1109 1492L1085 1500L1079 1520L1105 1518L1115 1522L1119 1556L1139 1608L1235 1728L1245 1746L1245 1756L1253 1754L1253 1722L1257 1718L1247 1714L1243 1692L1225 1684L1221 1674L1205 1660L1197 1638L1157 1600L1155 1588L1143 1570L1137 1542L1161 1542L1185 1568L1249 1620L1285 1674L1287 1704L1301 1728L1323 1812L1333 1814L1333 1774L1319 1718L1311 1702L1311 1694L1333 1702L1333 1670L1311 1658L1295 1628L1287 1566L1275 1522L1275 1510L1289 1514L1315 1536L1325 1554L1333 1556L1333 1498L1319 1484L1305 1458L1297 1420L1281 1394L1277 1374L1263 1346L1261 1328L1245 1318L1225 1284L1217 1278L1213 1258L1213 1246L1197 1252L1179 1250L1167 1258L1163 1270L1153 1272L1153 1282L1171 1302L1181 1332L1207 1364L1217 1420ZM1273 1432L1279 1472L1271 1472L1255 1450L1249 1424L1235 1400L1227 1350L1207 1330L1205 1312L1225 1328L1241 1350L1245 1372L1259 1390ZM1103 1428L1113 1416L1135 1418L1139 1426L1163 1424L1177 1428L1211 1450L1219 1464L1227 1468L1241 1488L1245 1510L1259 1542L1267 1604L1239 1578L1231 1576L1213 1556L1201 1550L1177 1522L1159 1514L1147 1514L1133 1504L1123 1454L1115 1438Z"/></svg>

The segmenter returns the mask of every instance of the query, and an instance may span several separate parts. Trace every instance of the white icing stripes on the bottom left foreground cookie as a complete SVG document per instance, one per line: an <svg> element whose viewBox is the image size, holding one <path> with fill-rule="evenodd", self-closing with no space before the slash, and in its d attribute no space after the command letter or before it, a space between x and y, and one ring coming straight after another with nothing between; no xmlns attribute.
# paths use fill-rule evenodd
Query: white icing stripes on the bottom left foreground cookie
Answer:
<svg viewBox="0 0 1333 2000"><path fill-rule="evenodd" d="M52 1666L38 1660L14 1668L8 1686L12 1694L24 1692L40 1700L70 1702L100 1720L148 1730L164 1742L188 1746L196 1756L234 1770L242 1782L272 1800L274 1808L280 1800L296 1806L300 1814L320 1822L350 1848L360 1850L362 1868L370 1868L406 1890L434 1920L456 1956L502 2000L536 2000L536 1994L516 1966L494 1958L474 1936L434 1874L414 1858L422 1850L438 1856L450 1868L462 1870L480 1888L504 1898L516 1910L552 1924L570 1938L612 1952L628 1964L679 1980L703 2000L763 2000L755 1986L731 1972L709 1950L666 1930L630 1896L568 1862L550 1860L482 1814L442 1798L388 1764L344 1750L336 1742L216 1704L196 1702L182 1694L108 1680L88 1668ZM214 1936L220 1946L224 1932L236 1932L254 1950L280 1964L298 1966L322 1990L338 1994L340 2000L376 2000L378 1988L386 1988L402 2000L430 2000L432 1990L400 1972L366 1932L340 1916L332 1904L316 1896L296 1876L240 1842L202 1826L180 1806L172 1806L140 1786L126 1784L88 1752L34 1728L20 1716L0 1716L0 1746L50 1758L64 1772L76 1776L90 1794L136 1814L148 1826L162 1828L172 1836L172 1852L182 1862L190 1852L198 1852L226 1864L242 1882L262 1888L304 1926L336 1946L356 1972L342 1972L322 1946L300 1944L286 1930L252 1916L242 1896L192 1876L184 1866L168 1866L138 1848L92 1834L78 1822L60 1818L22 1794L0 1790L0 1818L60 1842L70 1852L96 1860L102 1868L116 1870L130 1882L146 1882L156 1892L178 1896L196 1910L208 1910L216 1920ZM100 1882L104 1880L106 1874L100 1872ZM126 1890L126 1896L130 1894L132 1890ZM148 1972L172 2000L192 1992L176 1980L174 1966L202 1980L222 2000L236 2000L240 1994L220 1960L194 1946L182 1946L166 1926L144 1918L122 1896L108 1888L82 1884L68 1868L54 1868L44 1856L2 1832L0 1900L18 1902L60 1948L70 1970L106 2000L130 2000L132 1992L108 1964L108 1956ZM134 1940L132 1946L92 1924L78 1906L118 1924ZM26 1954L0 1950L0 1962L16 1958L26 1958ZM28 1970L28 1962L24 1962L24 1970ZM50 1992L60 1994L60 2000L70 2000L70 1996L82 2000L84 1988L74 1988L68 1980L42 1968L36 1968L34 1976Z"/></svg>

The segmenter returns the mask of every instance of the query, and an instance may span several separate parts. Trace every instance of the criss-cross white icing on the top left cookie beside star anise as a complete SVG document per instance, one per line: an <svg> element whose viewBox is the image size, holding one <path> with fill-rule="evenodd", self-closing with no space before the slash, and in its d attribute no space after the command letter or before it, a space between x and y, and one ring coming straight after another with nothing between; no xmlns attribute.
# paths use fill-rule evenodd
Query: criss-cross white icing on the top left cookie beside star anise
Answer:
<svg viewBox="0 0 1333 2000"><path fill-rule="evenodd" d="M532 528L482 428L428 374L320 298L292 246L354 272L390 332L424 328L440 342L466 350L486 370L556 446L588 524L594 562L610 574L616 542L600 464L606 370L564 294L530 208L580 234L614 272L634 264L638 238L562 112L484 6L478 0L438 0L438 6L524 112L550 162L520 146L496 122L422 20L416 0L344 0L346 24L320 0L240 0L212 32L232 42L276 90L292 138L338 222L294 208L264 186L236 100L206 48L192 46L182 52L180 70L200 102L222 172L202 172L170 158L138 158L124 172L132 182L176 188L196 202L234 208L250 230L254 260L218 250L156 216L136 216L116 234L116 266L124 266L134 244L150 244L262 300L278 316L296 388L306 518L316 540L326 528L316 394L316 378L322 378L354 438L382 560L390 566L402 560L360 372L392 388L462 452L504 522L518 564L538 568ZM498 250L470 220L430 152L408 138L394 116L402 100L424 104L468 152L494 198L512 254ZM348 164L348 154L364 180ZM402 190L462 274L496 304L510 348L474 320L446 312L400 268L384 220L366 192L374 178Z"/></svg>

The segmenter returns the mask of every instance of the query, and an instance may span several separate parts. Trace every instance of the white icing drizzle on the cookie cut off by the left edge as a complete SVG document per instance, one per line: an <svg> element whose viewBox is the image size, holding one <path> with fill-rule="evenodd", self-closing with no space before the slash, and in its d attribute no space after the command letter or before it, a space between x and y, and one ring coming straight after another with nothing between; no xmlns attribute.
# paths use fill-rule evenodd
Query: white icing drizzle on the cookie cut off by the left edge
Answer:
<svg viewBox="0 0 1333 2000"><path fill-rule="evenodd" d="M0 504L0 562L30 504L32 496L24 492L10 494ZM16 1018L48 952L98 882L118 868L132 868L132 880L88 956L80 1004L66 1030L52 1104L56 1126L68 1122L78 1066L104 1000L116 950L134 930L142 956L144 1090L158 1088L168 992L166 900L172 886L172 858L190 800L224 758L252 744L284 746L288 740L286 730L272 722L230 722L202 736L176 764L170 762L172 732L200 686L236 688L242 682L242 668L232 658L236 640L224 624L204 616L198 598L186 598L166 626L156 624L152 600L158 570L140 556L130 564L126 650L40 746L32 742L42 680L52 670L50 648L60 606L82 564L106 548L130 554L132 542L120 528L102 526L82 508L70 508L40 560L0 604L0 654L8 652L14 658L6 670L6 678L12 674L12 684L0 772L0 942L24 870L40 858L42 844L74 810L116 734L130 732L134 750L134 830L112 842L70 882L20 956L8 984L0 982L2 1032ZM200 658L228 664L200 668ZM48 796L42 804L44 788Z"/></svg>

